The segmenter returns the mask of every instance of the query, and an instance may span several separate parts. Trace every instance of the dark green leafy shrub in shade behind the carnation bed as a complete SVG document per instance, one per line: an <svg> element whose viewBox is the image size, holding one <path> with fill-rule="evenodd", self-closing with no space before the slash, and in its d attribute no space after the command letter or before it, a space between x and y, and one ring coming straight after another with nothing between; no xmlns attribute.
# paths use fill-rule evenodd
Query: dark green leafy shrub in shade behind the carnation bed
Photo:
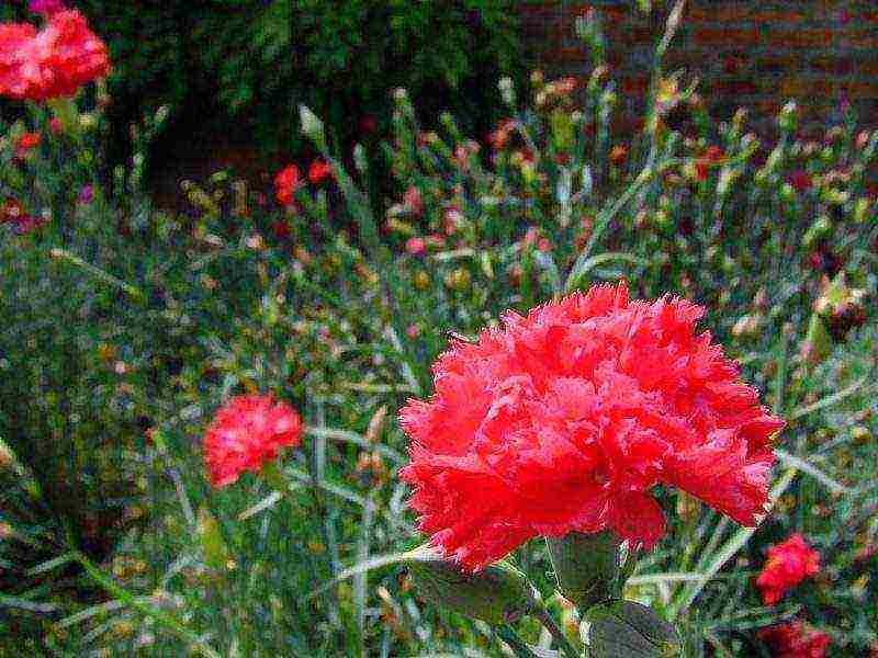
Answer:
<svg viewBox="0 0 878 658"><path fill-rule="evenodd" d="M299 103L347 139L359 120L383 114L394 87L429 92L443 106L484 121L491 94L482 94L477 80L518 64L513 4L235 0L81 7L110 45L113 91L123 103L227 113L255 131L261 148L273 149L289 148Z"/></svg>

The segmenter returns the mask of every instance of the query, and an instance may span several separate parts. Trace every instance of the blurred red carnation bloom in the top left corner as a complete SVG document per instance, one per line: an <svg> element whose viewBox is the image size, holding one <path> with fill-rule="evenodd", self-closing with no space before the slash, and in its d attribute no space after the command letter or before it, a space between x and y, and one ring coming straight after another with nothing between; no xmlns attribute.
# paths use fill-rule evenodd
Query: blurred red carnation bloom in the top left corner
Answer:
<svg viewBox="0 0 878 658"><path fill-rule="evenodd" d="M110 72L106 45L78 11L58 11L40 32L29 23L0 25L0 94L45 101L71 97Z"/></svg>

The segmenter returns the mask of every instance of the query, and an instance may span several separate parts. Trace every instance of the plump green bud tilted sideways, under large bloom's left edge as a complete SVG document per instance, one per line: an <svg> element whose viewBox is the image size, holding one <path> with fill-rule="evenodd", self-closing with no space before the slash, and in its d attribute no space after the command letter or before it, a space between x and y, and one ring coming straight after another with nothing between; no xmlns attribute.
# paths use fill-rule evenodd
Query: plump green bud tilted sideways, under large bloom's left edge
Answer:
<svg viewBox="0 0 878 658"><path fill-rule="evenodd" d="M418 549L408 569L425 599L488 624L504 624L527 614L533 590L518 569L504 561L468 574L429 547Z"/></svg>

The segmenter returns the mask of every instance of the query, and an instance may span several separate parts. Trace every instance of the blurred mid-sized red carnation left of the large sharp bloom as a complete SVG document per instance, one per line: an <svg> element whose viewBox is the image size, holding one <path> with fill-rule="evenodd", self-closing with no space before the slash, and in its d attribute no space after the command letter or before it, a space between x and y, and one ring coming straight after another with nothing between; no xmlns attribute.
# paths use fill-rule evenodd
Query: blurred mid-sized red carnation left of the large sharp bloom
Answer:
<svg viewBox="0 0 878 658"><path fill-rule="evenodd" d="M302 420L270 395L232 398L204 435L204 461L214 487L225 487L245 470L258 472L281 447L302 443Z"/></svg>

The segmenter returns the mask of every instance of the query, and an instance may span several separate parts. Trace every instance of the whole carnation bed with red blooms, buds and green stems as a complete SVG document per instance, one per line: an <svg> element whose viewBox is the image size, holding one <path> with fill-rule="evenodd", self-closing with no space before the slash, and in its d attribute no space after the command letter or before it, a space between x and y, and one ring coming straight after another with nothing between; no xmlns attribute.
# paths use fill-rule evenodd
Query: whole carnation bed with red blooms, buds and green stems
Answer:
<svg viewBox="0 0 878 658"><path fill-rule="evenodd" d="M221 171L168 212L168 109L108 170L132 64L31 9L0 25L0 655L878 655L853 112L716 124L662 64L680 0L622 134L589 10L589 75L500 78L485 139L394 89L375 185L300 97L317 156L273 197Z"/></svg>

